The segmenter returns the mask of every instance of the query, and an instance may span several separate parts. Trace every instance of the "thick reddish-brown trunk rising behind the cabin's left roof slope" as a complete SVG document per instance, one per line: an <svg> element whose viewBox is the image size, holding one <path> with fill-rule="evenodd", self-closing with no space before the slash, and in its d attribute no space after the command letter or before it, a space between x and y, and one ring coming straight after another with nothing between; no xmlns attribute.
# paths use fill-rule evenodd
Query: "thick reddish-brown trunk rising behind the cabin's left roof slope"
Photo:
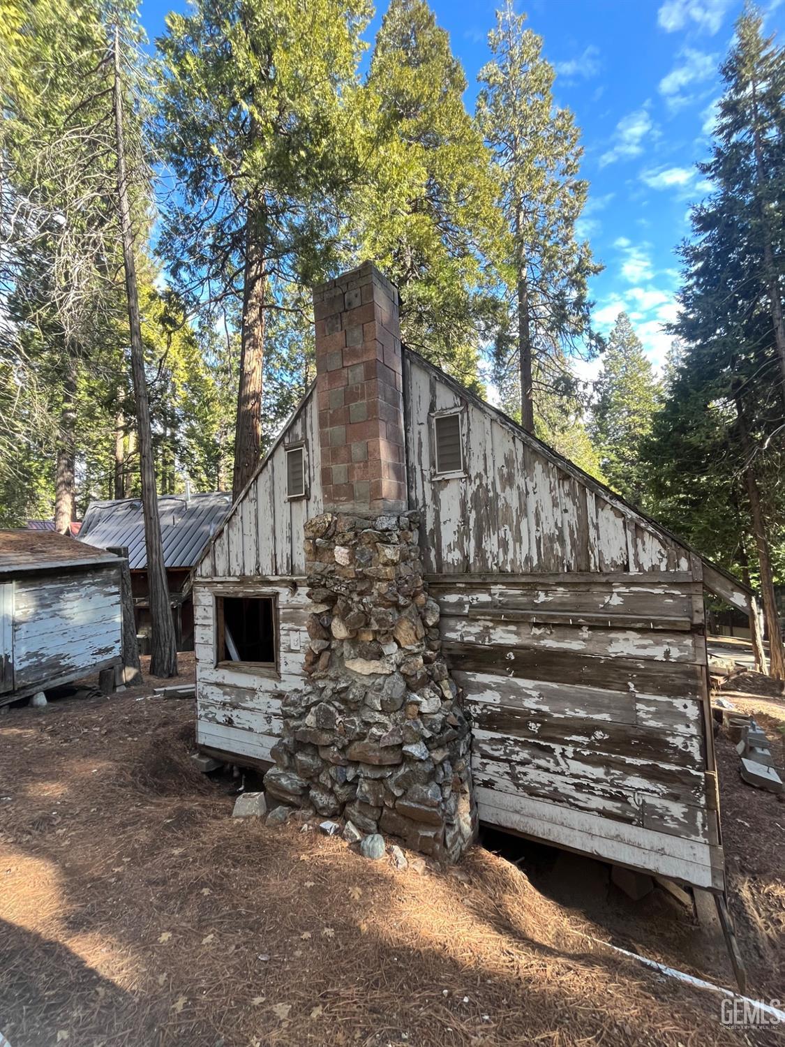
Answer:
<svg viewBox="0 0 785 1047"><path fill-rule="evenodd" d="M253 215L245 238L245 284L241 334L238 410L234 427L234 471L231 498L253 475L262 451L262 364L265 343L266 268Z"/></svg>

